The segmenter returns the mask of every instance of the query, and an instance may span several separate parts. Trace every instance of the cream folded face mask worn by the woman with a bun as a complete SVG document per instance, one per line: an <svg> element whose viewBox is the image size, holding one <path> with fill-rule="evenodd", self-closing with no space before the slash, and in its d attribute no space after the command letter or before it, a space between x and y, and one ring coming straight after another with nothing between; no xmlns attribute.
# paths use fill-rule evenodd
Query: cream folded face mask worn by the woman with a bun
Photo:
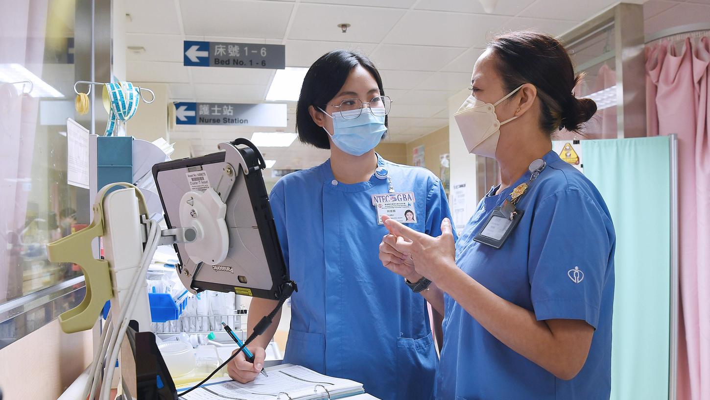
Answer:
<svg viewBox="0 0 710 400"><path fill-rule="evenodd" d="M506 94L506 97L493 104L481 102L473 94L466 99L464 104L461 104L459 111L454 114L454 119L456 119L456 123L459 126L461 136L464 136L464 144L466 144L469 153L496 158L496 147L498 147L498 138L501 136L501 126L518 118L518 116L515 116L503 122L498 121L496 106L515 94L515 92L518 92L520 87L523 86L519 86L518 89Z"/></svg>

